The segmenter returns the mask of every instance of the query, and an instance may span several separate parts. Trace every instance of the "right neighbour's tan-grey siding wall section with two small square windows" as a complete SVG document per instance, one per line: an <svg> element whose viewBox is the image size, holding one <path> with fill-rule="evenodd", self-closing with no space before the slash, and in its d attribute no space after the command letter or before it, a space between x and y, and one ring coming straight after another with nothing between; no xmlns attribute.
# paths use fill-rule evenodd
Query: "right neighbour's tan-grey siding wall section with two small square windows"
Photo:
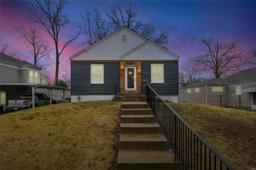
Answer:
<svg viewBox="0 0 256 170"><path fill-rule="evenodd" d="M199 92L195 92L195 89L199 88ZM191 93L188 93L188 89L191 89ZM196 86L184 88L184 103L196 103L206 105L206 86Z"/></svg>

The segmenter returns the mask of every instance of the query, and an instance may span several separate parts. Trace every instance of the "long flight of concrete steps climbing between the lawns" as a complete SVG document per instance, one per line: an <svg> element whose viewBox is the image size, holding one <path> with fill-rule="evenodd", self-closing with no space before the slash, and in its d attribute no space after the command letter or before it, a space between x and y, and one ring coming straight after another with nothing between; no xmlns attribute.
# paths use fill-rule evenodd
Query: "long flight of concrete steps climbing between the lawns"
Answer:
<svg viewBox="0 0 256 170"><path fill-rule="evenodd" d="M181 169L146 102L122 103L117 169Z"/></svg>

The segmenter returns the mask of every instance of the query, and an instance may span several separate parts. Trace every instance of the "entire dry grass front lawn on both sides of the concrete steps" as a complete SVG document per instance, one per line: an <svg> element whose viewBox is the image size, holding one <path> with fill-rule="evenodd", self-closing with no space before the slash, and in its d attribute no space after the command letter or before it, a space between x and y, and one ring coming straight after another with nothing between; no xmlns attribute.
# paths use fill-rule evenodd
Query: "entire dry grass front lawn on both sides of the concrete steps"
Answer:
<svg viewBox="0 0 256 170"><path fill-rule="evenodd" d="M256 168L256 112L169 104L233 168ZM63 103L1 115L0 169L115 169L120 105Z"/></svg>

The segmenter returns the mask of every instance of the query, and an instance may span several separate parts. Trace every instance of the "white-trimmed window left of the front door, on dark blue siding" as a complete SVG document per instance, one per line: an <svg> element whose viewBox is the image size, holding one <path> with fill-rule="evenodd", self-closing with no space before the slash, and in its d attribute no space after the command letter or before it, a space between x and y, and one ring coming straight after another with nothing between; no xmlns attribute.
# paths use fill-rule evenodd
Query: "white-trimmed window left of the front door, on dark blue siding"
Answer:
<svg viewBox="0 0 256 170"><path fill-rule="evenodd" d="M104 83L104 65L91 64L91 84Z"/></svg>

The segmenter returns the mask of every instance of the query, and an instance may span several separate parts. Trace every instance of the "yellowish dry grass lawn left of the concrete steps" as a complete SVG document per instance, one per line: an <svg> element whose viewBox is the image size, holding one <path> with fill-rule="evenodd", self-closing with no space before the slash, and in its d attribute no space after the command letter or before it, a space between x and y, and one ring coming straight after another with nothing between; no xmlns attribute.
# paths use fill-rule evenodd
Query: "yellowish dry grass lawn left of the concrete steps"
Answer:
<svg viewBox="0 0 256 170"><path fill-rule="evenodd" d="M106 170L120 102L62 103L1 115L1 170Z"/></svg>

